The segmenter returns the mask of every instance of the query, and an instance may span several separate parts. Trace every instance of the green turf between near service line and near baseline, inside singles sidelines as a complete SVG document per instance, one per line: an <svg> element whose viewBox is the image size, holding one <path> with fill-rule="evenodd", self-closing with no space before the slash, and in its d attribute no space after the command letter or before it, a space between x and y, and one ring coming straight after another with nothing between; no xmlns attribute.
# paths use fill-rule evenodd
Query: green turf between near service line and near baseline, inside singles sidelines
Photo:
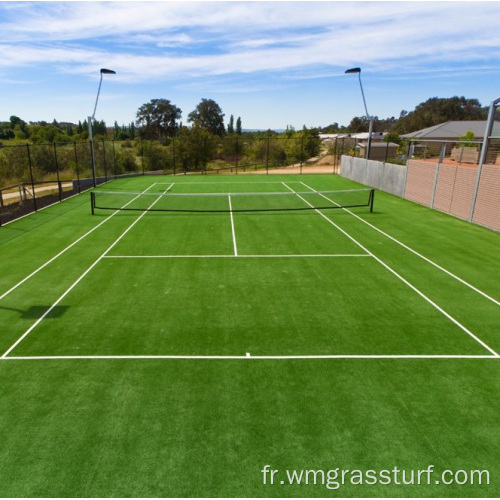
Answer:
<svg viewBox="0 0 500 500"><path fill-rule="evenodd" d="M106 259L16 355L488 354L376 262L353 260Z"/></svg>

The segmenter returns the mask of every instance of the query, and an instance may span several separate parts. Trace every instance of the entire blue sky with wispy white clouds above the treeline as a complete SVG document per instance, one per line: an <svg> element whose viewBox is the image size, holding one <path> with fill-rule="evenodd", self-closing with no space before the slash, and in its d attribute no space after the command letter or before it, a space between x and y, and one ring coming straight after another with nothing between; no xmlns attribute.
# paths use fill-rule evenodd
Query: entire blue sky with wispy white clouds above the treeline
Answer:
<svg viewBox="0 0 500 500"><path fill-rule="evenodd" d="M214 99L243 128L398 117L431 97L500 96L500 2L0 2L0 121L135 120Z"/></svg>

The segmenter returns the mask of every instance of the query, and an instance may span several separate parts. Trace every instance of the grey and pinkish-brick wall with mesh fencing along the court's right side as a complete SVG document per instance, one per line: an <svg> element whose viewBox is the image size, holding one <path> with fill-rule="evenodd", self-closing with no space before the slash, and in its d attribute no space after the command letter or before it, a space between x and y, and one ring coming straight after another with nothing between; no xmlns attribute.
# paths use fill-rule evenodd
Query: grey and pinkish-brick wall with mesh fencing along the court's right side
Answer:
<svg viewBox="0 0 500 500"><path fill-rule="evenodd" d="M412 140L405 165L343 156L340 174L500 231L500 99L483 141Z"/></svg>

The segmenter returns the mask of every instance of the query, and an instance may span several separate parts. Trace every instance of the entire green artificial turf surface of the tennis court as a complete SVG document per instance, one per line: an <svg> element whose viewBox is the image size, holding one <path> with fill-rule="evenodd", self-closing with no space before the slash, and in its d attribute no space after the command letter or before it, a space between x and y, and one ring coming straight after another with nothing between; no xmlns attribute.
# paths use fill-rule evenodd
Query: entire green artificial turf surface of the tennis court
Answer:
<svg viewBox="0 0 500 500"><path fill-rule="evenodd" d="M363 186L100 189L169 187ZM0 495L500 496L499 243L380 192L373 213L233 216L92 216L83 193L1 227ZM286 470L430 465L430 485L281 484ZM490 484L437 484L446 469L488 470Z"/></svg>

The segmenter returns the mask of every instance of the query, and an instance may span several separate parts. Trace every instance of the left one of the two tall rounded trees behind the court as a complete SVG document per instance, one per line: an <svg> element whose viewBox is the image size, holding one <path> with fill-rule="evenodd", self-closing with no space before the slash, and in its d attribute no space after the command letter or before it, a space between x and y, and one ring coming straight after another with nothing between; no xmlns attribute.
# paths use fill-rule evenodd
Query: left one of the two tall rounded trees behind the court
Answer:
<svg viewBox="0 0 500 500"><path fill-rule="evenodd" d="M152 99L137 111L137 126L144 128L144 135L164 141L173 137L179 130L182 110L168 99Z"/></svg>

